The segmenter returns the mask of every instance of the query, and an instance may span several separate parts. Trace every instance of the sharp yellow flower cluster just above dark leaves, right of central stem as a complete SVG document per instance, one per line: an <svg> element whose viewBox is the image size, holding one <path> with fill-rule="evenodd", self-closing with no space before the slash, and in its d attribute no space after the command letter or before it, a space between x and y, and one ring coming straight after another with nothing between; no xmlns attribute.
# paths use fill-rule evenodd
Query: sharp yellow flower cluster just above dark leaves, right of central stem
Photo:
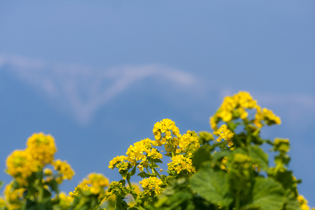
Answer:
<svg viewBox="0 0 315 210"><path fill-rule="evenodd" d="M195 172L195 167L192 166L192 159L184 157L183 155L175 155L171 158L172 162L168 163L168 169L176 171L176 173L191 173ZM186 169L186 170L185 170Z"/></svg>

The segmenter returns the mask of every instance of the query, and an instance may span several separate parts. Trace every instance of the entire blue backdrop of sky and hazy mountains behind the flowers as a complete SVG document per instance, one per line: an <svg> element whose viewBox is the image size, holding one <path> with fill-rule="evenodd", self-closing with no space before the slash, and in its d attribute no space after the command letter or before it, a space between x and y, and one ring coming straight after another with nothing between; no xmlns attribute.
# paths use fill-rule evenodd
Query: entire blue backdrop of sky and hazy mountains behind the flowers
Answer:
<svg viewBox="0 0 315 210"><path fill-rule="evenodd" d="M282 119L290 169L315 206L314 1L0 1L0 168L34 132L76 171L70 191L155 122L208 130L249 91ZM10 181L0 173L0 179ZM138 181L137 178L134 181Z"/></svg>

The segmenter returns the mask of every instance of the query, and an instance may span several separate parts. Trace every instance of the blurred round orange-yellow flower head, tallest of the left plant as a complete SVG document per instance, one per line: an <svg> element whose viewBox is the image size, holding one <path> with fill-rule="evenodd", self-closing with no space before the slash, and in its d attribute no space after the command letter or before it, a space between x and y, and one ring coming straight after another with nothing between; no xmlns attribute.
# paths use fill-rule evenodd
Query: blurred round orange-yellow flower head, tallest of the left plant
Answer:
<svg viewBox="0 0 315 210"><path fill-rule="evenodd" d="M30 153L35 160L38 160L43 167L47 163L52 163L56 146L54 138L51 135L43 133L34 133L27 139L26 151Z"/></svg>

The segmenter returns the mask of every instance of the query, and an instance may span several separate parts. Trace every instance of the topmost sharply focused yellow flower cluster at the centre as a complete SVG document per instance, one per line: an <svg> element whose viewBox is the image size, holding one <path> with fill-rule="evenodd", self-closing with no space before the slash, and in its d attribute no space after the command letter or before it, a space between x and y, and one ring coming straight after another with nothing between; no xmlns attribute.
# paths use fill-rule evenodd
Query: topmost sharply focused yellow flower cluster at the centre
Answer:
<svg viewBox="0 0 315 210"><path fill-rule="evenodd" d="M179 129L176 127L175 122L170 119L163 119L162 121L155 123L153 134L158 146L165 144L168 139L172 138L172 135L180 138Z"/></svg>

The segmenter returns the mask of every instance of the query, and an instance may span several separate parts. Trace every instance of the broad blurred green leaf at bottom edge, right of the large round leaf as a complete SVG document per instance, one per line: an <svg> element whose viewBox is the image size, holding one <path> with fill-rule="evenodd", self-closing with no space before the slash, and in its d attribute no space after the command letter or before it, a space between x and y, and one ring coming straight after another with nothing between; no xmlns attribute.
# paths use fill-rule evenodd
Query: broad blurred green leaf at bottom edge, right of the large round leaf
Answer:
<svg viewBox="0 0 315 210"><path fill-rule="evenodd" d="M272 178L256 178L252 205L259 206L261 210L281 210L284 202L284 189L279 182Z"/></svg>

